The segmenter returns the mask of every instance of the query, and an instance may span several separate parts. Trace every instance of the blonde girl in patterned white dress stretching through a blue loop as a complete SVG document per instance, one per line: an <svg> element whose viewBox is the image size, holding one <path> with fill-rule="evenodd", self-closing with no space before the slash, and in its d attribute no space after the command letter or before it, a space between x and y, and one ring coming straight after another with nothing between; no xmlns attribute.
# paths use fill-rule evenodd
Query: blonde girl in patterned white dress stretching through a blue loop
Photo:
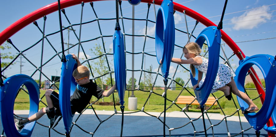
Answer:
<svg viewBox="0 0 276 137"><path fill-rule="evenodd" d="M200 55L201 48L195 42L190 42L187 45L185 45L185 47L183 47L183 53L186 60L180 58L172 58L171 61L177 64L190 64L190 69L192 71L193 77L195 77L195 68L197 68L198 83L194 85L193 88L195 89L198 86L202 86L205 79L205 77L202 78L202 76L203 73L206 74L207 72L208 60ZM258 111L259 108L253 103L252 100L250 100L246 93L238 90L236 83L233 79L234 76L235 73L230 67L224 64L219 64L217 70L217 77L215 79L211 93L220 90L224 92L224 95L228 100L231 100L232 93L240 97L249 105L249 107L245 111L243 111L242 114Z"/></svg>

